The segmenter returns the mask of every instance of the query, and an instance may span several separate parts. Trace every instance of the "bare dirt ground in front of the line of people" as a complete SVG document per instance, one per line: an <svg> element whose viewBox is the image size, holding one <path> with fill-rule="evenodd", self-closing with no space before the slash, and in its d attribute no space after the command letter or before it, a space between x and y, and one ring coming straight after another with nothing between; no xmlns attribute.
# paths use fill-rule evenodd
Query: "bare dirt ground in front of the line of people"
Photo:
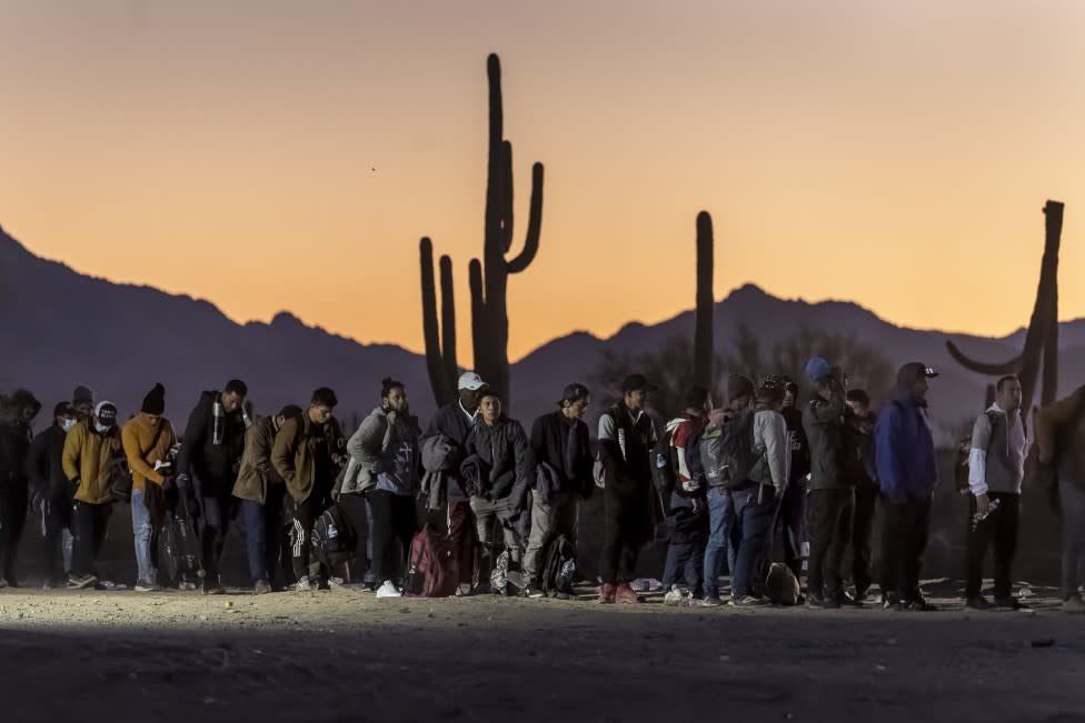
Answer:
<svg viewBox="0 0 1085 723"><path fill-rule="evenodd" d="M3 590L2 720L1085 721L1085 616L927 591L943 611Z"/></svg>

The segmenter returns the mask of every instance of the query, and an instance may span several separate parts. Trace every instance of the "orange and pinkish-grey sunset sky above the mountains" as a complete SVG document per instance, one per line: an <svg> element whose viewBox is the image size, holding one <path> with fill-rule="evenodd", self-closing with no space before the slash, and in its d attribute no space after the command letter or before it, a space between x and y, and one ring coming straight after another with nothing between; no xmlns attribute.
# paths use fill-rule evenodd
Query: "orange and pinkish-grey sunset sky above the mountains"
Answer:
<svg viewBox="0 0 1085 723"><path fill-rule="evenodd" d="M701 209L717 298L753 281L1003 334L1048 198L1061 315L1085 315L1083 37L1076 0L0 0L0 224L238 321L414 350L430 235L467 361L495 51L517 244L547 174L514 359L691 307Z"/></svg>

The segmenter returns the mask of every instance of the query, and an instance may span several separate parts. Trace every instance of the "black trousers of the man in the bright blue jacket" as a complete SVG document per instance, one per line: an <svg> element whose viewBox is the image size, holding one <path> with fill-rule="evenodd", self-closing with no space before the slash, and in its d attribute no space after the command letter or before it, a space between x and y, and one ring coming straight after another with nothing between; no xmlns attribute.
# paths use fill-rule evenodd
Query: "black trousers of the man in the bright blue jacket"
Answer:
<svg viewBox="0 0 1085 723"><path fill-rule="evenodd" d="M923 553L930 531L930 499L903 502L884 500L882 529L882 575L886 594L894 593L904 602L918 601L919 573Z"/></svg>

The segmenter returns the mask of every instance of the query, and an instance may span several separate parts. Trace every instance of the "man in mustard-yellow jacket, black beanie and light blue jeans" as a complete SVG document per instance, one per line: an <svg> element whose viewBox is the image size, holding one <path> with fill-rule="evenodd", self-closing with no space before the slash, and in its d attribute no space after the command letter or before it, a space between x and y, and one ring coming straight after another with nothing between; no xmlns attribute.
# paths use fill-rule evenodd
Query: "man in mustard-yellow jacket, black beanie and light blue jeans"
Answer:
<svg viewBox="0 0 1085 723"><path fill-rule="evenodd" d="M143 398L139 414L128 420L121 428L120 438L128 458L128 469L132 471L132 536L136 542L136 592L158 590L155 558L151 554L153 524L151 522L150 495L173 486L173 478L155 469L156 462L166 462L170 450L177 442L173 425L162 416L166 412L166 388L155 384L155 389ZM149 485L153 489L149 489ZM161 508L161 505L158 505Z"/></svg>

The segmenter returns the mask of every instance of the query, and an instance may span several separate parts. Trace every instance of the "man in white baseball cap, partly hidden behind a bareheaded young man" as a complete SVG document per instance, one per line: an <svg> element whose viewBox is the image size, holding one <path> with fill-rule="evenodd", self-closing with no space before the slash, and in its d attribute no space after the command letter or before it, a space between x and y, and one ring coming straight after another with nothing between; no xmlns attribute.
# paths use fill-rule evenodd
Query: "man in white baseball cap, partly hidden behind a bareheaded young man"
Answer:
<svg viewBox="0 0 1085 723"><path fill-rule="evenodd" d="M464 372L457 386L459 399L437 410L422 434L422 443L428 438L441 434L461 450L467 444L467 438L470 436L478 416L479 394L486 389L486 382L475 372ZM458 470L448 472L446 496L448 539L459 551L460 585L457 594L470 594L472 590L482 592L479 580L479 550L475 545L475 514L471 512L470 498L465 491L464 480Z"/></svg>

